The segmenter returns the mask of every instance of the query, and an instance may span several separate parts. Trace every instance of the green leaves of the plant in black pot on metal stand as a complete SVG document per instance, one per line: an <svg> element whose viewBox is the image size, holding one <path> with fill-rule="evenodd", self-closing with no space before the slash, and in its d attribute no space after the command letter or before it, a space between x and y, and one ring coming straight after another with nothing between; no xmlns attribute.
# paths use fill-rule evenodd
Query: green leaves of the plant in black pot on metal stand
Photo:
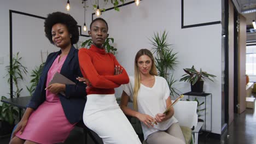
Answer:
<svg viewBox="0 0 256 144"><path fill-rule="evenodd" d="M200 71L197 71L194 68L194 65L191 69L187 68L183 70L186 74L182 75L183 77L179 81L188 81L191 82L192 85L195 85L197 81L203 81L206 79L213 81L211 77L216 77L215 75L208 74L206 71L202 71L202 69L200 69Z"/></svg>

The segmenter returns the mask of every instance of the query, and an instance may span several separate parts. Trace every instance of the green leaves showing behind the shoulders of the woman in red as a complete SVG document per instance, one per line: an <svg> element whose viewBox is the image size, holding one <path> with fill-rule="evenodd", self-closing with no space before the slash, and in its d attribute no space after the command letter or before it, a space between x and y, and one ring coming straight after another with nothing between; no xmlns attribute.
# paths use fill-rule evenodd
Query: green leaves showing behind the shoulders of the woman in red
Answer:
<svg viewBox="0 0 256 144"><path fill-rule="evenodd" d="M114 43L114 38L107 38L103 44L103 47L105 48L106 52L115 53L117 52L117 49L112 46ZM92 45L92 39L88 39L82 43L82 47L89 48Z"/></svg>

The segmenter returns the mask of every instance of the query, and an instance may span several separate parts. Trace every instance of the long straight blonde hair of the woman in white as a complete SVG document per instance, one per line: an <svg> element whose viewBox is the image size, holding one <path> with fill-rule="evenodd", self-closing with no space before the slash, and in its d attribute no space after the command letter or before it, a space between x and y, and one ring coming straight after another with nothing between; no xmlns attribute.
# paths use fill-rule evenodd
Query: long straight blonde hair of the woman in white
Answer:
<svg viewBox="0 0 256 144"><path fill-rule="evenodd" d="M148 49L139 50L137 52L136 56L135 56L135 61L134 61L135 86L133 88L133 109L135 109L136 111L138 110L137 96L138 96L139 88L141 86L141 75L139 73L137 63L138 63L139 57L141 57L143 55L148 56L152 61L152 66L151 66L151 69L149 71L149 74L150 75L158 75L158 72L156 71L154 56L153 56L152 52L150 52Z"/></svg>

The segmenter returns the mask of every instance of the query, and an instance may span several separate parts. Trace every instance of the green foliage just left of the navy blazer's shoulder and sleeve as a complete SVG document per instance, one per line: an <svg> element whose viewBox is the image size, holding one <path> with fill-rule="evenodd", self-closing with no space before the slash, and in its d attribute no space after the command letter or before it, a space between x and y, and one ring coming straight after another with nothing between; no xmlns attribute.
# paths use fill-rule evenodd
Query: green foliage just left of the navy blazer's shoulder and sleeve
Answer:
<svg viewBox="0 0 256 144"><path fill-rule="evenodd" d="M30 93L30 95L33 94L34 89L36 89L36 87L37 87L37 84L39 82L39 79L40 79L40 76L42 74L43 68L44 68L44 63L40 64L39 67L36 67L31 72L31 75L30 75L32 77L32 79L30 81L31 86L30 87L26 86L27 91Z"/></svg>

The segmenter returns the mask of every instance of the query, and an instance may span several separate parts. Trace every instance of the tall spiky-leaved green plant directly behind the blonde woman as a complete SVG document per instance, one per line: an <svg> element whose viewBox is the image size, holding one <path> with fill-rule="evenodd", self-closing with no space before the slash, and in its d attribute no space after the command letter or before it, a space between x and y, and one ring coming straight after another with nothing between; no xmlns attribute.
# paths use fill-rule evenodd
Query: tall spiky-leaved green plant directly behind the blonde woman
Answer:
<svg viewBox="0 0 256 144"><path fill-rule="evenodd" d="M158 69L158 75L166 79L172 96L179 95L178 89L173 87L173 84L177 82L177 80L169 73L171 70L174 70L178 64L177 53L173 52L173 49L170 48L171 44L167 43L166 31L162 34L154 33L150 42L153 45L153 53L156 53L155 64Z"/></svg>

